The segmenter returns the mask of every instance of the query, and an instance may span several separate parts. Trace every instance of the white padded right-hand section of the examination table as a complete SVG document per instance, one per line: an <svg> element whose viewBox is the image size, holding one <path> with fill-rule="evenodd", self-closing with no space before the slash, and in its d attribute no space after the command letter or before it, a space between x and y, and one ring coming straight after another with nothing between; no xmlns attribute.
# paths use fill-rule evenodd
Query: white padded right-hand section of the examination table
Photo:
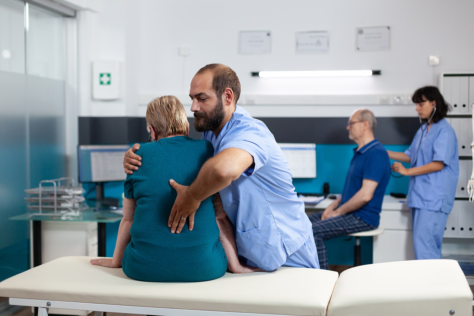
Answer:
<svg viewBox="0 0 474 316"><path fill-rule="evenodd" d="M328 316L472 315L473 294L454 260L362 265L341 273Z"/></svg>

